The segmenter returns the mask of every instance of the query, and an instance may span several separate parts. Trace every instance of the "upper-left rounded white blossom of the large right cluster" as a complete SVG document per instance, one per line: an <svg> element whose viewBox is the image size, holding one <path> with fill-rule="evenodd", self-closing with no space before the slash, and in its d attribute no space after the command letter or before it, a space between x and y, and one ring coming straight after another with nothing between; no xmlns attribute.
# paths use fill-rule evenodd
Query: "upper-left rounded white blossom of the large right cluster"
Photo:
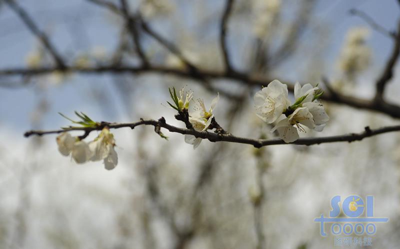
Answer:
<svg viewBox="0 0 400 249"><path fill-rule="evenodd" d="M254 95L255 112L267 123L274 122L290 105L287 85L275 79Z"/></svg>

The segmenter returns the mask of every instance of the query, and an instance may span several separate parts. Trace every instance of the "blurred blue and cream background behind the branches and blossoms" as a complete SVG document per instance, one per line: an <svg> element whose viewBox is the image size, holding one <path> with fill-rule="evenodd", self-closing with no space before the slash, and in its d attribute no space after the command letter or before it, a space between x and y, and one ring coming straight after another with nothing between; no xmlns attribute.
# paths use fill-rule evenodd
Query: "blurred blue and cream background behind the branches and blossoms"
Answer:
<svg viewBox="0 0 400 249"><path fill-rule="evenodd" d="M369 247L398 247L398 133L261 149L204 140L193 150L177 133L164 131L165 140L152 127L121 128L112 131L119 162L111 171L101 162L76 164L62 156L55 135L24 138L29 129L69 125L57 112L73 116L74 110L109 122L164 116L183 127L166 107L171 86L192 89L207 106L219 92L215 117L235 135L275 137L255 115L252 96L259 87L233 80L156 71L3 73L53 65L12 4L29 14L67 65L138 65L124 19L102 3L0 1L0 248L333 248L333 237L320 236L314 218L328 214L334 195L351 194L373 195L375 216L389 218L376 226ZM128 0L127 5L196 67L223 70L224 0ZM393 39L360 13L393 31L399 10L395 0L236 0L227 51L232 66L250 75L302 84L326 77L338 92L371 98ZM139 31L151 64L184 70L177 56ZM385 94L396 104L398 71L396 66ZM300 136L397 123L382 113L322 102L330 116L324 131Z"/></svg>

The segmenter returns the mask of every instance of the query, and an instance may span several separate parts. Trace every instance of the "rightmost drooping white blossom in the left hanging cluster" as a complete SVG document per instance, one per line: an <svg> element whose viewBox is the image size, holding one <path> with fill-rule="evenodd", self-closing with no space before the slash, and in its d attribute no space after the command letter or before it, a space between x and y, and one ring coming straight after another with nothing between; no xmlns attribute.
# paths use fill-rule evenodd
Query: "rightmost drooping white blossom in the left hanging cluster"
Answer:
<svg viewBox="0 0 400 249"><path fill-rule="evenodd" d="M93 152L90 160L103 160L106 169L113 169L118 163L118 156L114 149L115 140L108 128L103 128L100 134L91 142L89 148Z"/></svg>

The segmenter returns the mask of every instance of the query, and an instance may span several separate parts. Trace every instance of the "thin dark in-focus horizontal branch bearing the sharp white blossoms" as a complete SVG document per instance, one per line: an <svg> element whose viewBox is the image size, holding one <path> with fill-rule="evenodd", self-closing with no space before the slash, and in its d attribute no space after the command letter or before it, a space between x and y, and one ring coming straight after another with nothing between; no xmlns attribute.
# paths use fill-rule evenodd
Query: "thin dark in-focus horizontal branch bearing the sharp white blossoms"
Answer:
<svg viewBox="0 0 400 249"><path fill-rule="evenodd" d="M158 134L160 134L160 127L165 128L169 130L170 132L175 132L175 133L180 133L180 134L190 134L194 135L195 137L200 137L203 139L208 139L211 142L217 142L217 141L226 141L226 142L235 142L235 143L244 143L244 144L250 144L253 145L254 147L260 148L262 146L267 146L267 145L275 145L275 144L300 144L300 145L313 145L313 144L320 144L320 143L328 143L328 142L352 142L352 141L359 141L362 140L365 137L373 136L373 135L378 135L386 132L392 132L392 131L400 131L400 125L393 125L393 126L385 126L377 129L370 129L368 126L365 127L365 130L359 133L350 133L350 134L344 134L344 135L335 135L335 136L323 136L323 137L307 137L307 138L300 138L292 143L285 143L281 139L252 139L252 138L246 138L246 137L239 137L239 136L234 136L230 133L211 133L208 131L196 131L194 129L186 129L186 128L179 128L170 124L167 124L165 122L165 119L161 117L158 120L144 120L141 119L138 122L133 122L133 123L109 123L109 122L101 122L101 124L96 125L95 127L69 127L65 129L58 129L58 130L30 130L24 133L25 137L31 136L31 135L45 135L45 134L55 134L55 133L61 133L65 131L71 131L71 130L81 130L84 131L83 136L87 136L88 133L90 133L93 130L101 130L104 127L108 128L122 128L122 127L129 127L133 129L136 126L139 125L152 125L154 126L154 131Z"/></svg>

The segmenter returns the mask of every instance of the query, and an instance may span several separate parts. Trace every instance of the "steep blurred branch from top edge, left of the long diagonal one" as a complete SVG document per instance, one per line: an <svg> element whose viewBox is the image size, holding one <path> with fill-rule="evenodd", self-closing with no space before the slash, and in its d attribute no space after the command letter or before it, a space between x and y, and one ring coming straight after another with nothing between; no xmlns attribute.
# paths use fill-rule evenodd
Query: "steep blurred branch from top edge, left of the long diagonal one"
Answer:
<svg viewBox="0 0 400 249"><path fill-rule="evenodd" d="M135 44L137 55L140 57L140 60L143 66L148 66L148 60L144 54L143 48L140 44L139 32L137 30L137 22L138 16L131 16L129 13L129 6L127 5L126 0L120 0L121 3L121 11L126 21L126 26L129 29L129 32L132 36L132 40Z"/></svg>

